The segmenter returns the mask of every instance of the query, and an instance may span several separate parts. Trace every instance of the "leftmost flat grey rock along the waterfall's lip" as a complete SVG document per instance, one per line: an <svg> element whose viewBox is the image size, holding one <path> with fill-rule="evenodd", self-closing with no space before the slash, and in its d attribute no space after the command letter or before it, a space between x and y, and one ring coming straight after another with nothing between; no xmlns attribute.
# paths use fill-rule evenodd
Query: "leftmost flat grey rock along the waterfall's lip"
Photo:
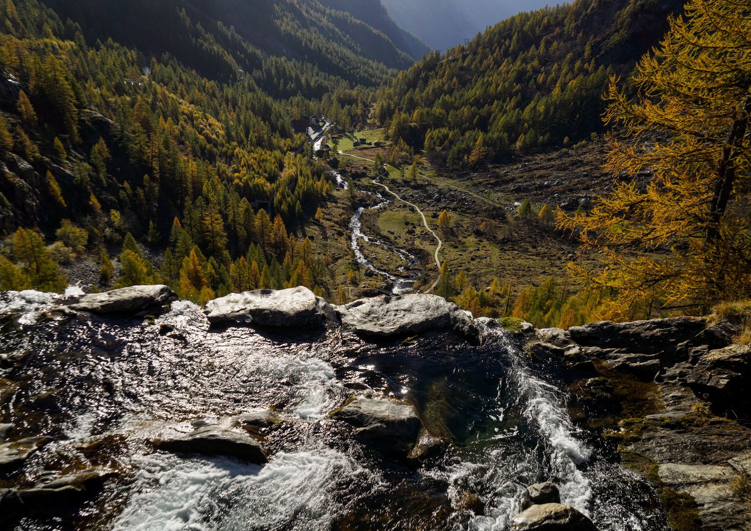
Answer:
<svg viewBox="0 0 751 531"><path fill-rule="evenodd" d="M166 285L143 285L82 295L70 307L98 315L130 315L149 309L161 309L174 300L177 300L177 295Z"/></svg>

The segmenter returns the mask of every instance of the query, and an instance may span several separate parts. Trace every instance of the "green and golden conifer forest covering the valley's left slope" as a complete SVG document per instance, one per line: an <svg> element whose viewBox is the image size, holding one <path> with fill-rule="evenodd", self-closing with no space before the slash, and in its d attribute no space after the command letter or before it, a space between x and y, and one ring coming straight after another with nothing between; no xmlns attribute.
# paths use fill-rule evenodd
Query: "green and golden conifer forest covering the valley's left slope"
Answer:
<svg viewBox="0 0 751 531"><path fill-rule="evenodd" d="M122 12L104 16L105 4ZM117 270L118 285L167 282L192 300L261 285L321 291L324 257L291 234L332 185L295 155L304 138L290 121L363 122L370 93L356 83L388 69L337 54L345 47L327 47L320 28L299 31L311 19L293 11L275 9L276 44L297 39L309 62L269 56L221 23L210 32L203 14L173 5L136 19L134 4L92 2L101 18L78 23L37 0L0 0L0 227L12 235L0 288L59 290L57 264L95 253L105 286ZM152 56L164 38L175 55Z"/></svg>

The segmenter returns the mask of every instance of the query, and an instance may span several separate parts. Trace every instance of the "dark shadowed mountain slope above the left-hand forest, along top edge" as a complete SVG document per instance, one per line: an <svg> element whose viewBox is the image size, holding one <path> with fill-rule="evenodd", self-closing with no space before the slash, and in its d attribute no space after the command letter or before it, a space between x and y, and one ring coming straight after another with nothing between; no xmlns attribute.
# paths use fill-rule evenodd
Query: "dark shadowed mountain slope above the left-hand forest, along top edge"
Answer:
<svg viewBox="0 0 751 531"><path fill-rule="evenodd" d="M48 0L47 5L80 23L91 41L112 38L157 56L168 52L208 77L233 74L224 58L207 56L217 42L240 68L257 68L249 44L365 86L383 83L391 69L413 62L383 32L315 0ZM188 20L194 24L186 31Z"/></svg>

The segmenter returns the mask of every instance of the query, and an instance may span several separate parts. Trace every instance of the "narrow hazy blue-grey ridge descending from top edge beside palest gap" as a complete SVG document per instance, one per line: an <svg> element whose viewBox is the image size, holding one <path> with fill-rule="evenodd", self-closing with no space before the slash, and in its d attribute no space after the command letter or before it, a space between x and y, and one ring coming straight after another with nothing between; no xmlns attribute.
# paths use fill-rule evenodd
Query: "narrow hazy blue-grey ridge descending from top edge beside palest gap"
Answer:
<svg viewBox="0 0 751 531"><path fill-rule="evenodd" d="M402 29L383 7L380 0L318 0L327 8L346 11L357 20L372 26L379 32L385 33L394 46L409 53L413 59L421 59L430 53L426 46L417 36Z"/></svg>

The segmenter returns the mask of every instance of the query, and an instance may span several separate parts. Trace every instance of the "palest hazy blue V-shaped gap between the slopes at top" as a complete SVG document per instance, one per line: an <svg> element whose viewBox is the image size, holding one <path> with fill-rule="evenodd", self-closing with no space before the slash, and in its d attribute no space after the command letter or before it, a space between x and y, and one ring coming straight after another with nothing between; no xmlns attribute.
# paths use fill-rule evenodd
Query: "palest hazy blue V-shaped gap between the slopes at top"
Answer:
<svg viewBox="0 0 751 531"><path fill-rule="evenodd" d="M487 26L520 11L533 11L556 0L382 0L397 23L433 50L448 50Z"/></svg>

